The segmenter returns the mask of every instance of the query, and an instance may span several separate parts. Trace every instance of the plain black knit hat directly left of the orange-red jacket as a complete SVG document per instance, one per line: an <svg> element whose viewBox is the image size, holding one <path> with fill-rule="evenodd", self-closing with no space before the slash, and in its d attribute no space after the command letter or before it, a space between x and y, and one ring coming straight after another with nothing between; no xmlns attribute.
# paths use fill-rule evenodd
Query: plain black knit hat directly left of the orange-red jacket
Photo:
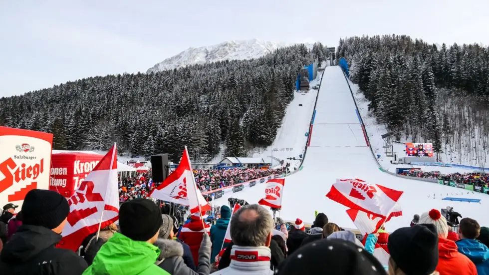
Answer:
<svg viewBox="0 0 489 275"><path fill-rule="evenodd" d="M404 227L389 236L389 275L432 275L438 265L438 234L432 224Z"/></svg>

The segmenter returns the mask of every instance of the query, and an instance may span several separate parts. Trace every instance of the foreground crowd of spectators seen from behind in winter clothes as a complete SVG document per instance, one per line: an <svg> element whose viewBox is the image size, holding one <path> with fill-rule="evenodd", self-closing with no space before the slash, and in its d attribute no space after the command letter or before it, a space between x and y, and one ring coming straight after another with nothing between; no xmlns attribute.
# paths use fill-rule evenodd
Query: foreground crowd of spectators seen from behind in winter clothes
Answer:
<svg viewBox="0 0 489 275"><path fill-rule="evenodd" d="M12 207L6 205L3 215L10 216ZM307 231L300 218L274 221L257 204L232 215L222 206L213 227L194 213L179 229L154 202L137 198L121 205L117 227L90 238L84 257L56 248L68 212L58 193L29 191L21 208L23 224L0 249L2 274L489 274L489 229L466 217L455 232L436 209L392 233L381 228L357 238L324 213ZM225 241L228 226L231 242Z"/></svg>

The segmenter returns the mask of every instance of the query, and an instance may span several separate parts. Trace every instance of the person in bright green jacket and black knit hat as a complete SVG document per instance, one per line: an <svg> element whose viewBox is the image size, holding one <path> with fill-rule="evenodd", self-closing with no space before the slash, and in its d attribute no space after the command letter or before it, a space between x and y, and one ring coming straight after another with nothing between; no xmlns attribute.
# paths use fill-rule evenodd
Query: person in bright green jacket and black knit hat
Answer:
<svg viewBox="0 0 489 275"><path fill-rule="evenodd" d="M83 275L168 275L155 265L160 250L153 244L162 225L161 211L148 199L133 199L119 209L121 233L98 251Z"/></svg>

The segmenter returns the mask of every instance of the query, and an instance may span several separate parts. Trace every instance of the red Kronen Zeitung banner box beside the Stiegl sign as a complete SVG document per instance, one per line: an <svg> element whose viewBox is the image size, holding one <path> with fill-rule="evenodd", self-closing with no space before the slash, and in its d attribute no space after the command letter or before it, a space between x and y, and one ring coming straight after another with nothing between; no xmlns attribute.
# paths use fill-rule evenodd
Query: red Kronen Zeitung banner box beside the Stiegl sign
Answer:
<svg viewBox="0 0 489 275"><path fill-rule="evenodd" d="M66 198L71 197L102 157L98 154L78 152L52 154L49 190L56 191Z"/></svg>

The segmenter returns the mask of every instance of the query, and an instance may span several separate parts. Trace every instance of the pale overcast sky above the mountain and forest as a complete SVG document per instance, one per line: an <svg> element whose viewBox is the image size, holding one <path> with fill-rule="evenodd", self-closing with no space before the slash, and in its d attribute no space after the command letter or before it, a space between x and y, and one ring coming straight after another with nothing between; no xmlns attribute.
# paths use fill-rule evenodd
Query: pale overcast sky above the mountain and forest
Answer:
<svg viewBox="0 0 489 275"><path fill-rule="evenodd" d="M488 0L2 0L0 97L145 72L226 40L336 46L340 37L395 33L488 45L488 8Z"/></svg>

